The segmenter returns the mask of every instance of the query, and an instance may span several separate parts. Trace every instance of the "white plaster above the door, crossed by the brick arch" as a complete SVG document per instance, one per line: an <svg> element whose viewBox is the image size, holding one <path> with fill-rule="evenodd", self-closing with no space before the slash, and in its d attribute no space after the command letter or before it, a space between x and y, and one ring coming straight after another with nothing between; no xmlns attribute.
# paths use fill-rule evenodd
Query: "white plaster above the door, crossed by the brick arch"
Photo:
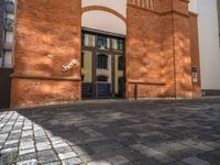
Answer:
<svg viewBox="0 0 220 165"><path fill-rule="evenodd" d="M116 10L127 16L127 0L82 0L82 8L101 6ZM82 26L125 34L125 23L116 15L105 11L89 11L82 14Z"/></svg>

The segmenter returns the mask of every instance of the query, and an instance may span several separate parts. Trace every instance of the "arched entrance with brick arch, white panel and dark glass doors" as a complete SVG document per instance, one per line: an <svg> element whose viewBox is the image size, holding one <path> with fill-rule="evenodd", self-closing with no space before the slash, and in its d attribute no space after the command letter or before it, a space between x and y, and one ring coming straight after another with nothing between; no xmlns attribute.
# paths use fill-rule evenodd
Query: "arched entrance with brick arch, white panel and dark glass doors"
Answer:
<svg viewBox="0 0 220 165"><path fill-rule="evenodd" d="M125 18L106 7L84 8L81 41L82 99L124 98Z"/></svg>

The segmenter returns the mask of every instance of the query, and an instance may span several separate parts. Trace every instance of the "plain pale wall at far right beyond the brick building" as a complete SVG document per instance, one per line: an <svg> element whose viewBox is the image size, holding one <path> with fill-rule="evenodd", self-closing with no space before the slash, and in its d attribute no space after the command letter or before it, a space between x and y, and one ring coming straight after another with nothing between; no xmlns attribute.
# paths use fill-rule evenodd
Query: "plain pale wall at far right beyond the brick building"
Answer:
<svg viewBox="0 0 220 165"><path fill-rule="evenodd" d="M217 0L199 0L198 26L201 88L220 89L220 51Z"/></svg>

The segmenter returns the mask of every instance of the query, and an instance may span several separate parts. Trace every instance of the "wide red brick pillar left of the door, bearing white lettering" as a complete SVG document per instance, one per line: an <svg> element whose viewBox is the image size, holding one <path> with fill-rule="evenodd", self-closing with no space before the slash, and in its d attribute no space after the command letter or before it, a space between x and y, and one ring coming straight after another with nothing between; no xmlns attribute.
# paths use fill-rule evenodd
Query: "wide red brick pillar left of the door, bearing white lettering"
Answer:
<svg viewBox="0 0 220 165"><path fill-rule="evenodd" d="M80 99L80 0L18 0L11 107Z"/></svg>

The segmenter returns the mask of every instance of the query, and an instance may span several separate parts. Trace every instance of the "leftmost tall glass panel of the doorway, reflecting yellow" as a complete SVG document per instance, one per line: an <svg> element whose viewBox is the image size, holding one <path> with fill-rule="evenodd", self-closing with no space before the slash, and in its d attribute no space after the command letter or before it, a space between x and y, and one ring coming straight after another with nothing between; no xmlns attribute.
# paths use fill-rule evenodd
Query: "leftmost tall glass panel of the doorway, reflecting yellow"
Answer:
<svg viewBox="0 0 220 165"><path fill-rule="evenodd" d="M92 52L82 51L81 58L81 95L82 97L92 97Z"/></svg>

